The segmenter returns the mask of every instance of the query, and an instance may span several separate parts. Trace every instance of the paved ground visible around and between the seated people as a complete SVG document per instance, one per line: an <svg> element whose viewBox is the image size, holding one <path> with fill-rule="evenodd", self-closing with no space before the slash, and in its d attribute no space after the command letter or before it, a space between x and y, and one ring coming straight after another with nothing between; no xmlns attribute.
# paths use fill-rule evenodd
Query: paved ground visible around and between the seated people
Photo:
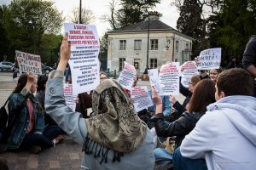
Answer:
<svg viewBox="0 0 256 170"><path fill-rule="evenodd" d="M9 94L15 88L17 80L13 81L12 73L0 72L0 105L2 106ZM150 88L149 82L139 80L137 86L147 86ZM182 96L177 98L183 100ZM73 142L66 136L62 144L56 147L42 150L38 155L31 154L27 151L6 152L0 154L0 158L8 161L10 170L25 169L81 169L82 146Z"/></svg>

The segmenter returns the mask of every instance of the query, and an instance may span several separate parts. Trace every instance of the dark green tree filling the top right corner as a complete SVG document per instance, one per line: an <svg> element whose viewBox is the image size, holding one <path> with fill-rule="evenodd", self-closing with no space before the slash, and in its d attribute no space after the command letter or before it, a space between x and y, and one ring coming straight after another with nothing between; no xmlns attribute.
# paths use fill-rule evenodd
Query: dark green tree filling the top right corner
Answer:
<svg viewBox="0 0 256 170"><path fill-rule="evenodd" d="M241 59L248 38L256 34L256 1L224 0L220 9L218 43Z"/></svg>

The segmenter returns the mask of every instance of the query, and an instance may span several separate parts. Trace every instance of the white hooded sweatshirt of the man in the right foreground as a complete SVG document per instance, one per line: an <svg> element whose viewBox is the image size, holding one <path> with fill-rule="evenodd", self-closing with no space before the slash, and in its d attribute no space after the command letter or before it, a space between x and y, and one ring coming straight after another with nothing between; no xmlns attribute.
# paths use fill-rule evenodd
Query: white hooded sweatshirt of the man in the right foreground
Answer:
<svg viewBox="0 0 256 170"><path fill-rule="evenodd" d="M229 96L208 105L180 150L184 157L205 157L209 170L255 169L255 132L256 98Z"/></svg>

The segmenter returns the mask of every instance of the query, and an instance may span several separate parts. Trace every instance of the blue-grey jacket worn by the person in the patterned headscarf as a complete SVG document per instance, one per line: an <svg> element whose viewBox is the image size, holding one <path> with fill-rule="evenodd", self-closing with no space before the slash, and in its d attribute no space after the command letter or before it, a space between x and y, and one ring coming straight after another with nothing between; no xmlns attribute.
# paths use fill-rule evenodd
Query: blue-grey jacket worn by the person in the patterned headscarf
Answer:
<svg viewBox="0 0 256 170"><path fill-rule="evenodd" d="M79 112L73 112L65 103L63 95L63 71L52 71L49 74L49 80L46 86L45 95L45 109L46 113L51 116L55 122L78 144L83 145L84 139L87 136L88 128L84 118ZM96 148L96 145L90 144L89 150ZM101 147L97 147L96 152L101 152ZM82 147L81 147L82 150ZM119 162L113 162L113 150L109 150L106 160L102 162L100 157L96 157L95 153L87 155L83 151L82 169L96 169L96 170L151 170L154 169L154 142L153 135L149 129L143 143L137 150L131 153L125 153L121 156ZM105 150L102 149L102 152Z"/></svg>

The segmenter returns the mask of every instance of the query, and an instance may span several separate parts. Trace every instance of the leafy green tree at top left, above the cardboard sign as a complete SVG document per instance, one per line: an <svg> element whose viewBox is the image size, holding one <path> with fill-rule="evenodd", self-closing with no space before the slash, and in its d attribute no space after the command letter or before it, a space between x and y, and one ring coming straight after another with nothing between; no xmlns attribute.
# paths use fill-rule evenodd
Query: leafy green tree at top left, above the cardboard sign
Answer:
<svg viewBox="0 0 256 170"><path fill-rule="evenodd" d="M63 22L53 3L43 0L13 0L4 20L11 48L32 54L40 51L44 33L59 32Z"/></svg>

